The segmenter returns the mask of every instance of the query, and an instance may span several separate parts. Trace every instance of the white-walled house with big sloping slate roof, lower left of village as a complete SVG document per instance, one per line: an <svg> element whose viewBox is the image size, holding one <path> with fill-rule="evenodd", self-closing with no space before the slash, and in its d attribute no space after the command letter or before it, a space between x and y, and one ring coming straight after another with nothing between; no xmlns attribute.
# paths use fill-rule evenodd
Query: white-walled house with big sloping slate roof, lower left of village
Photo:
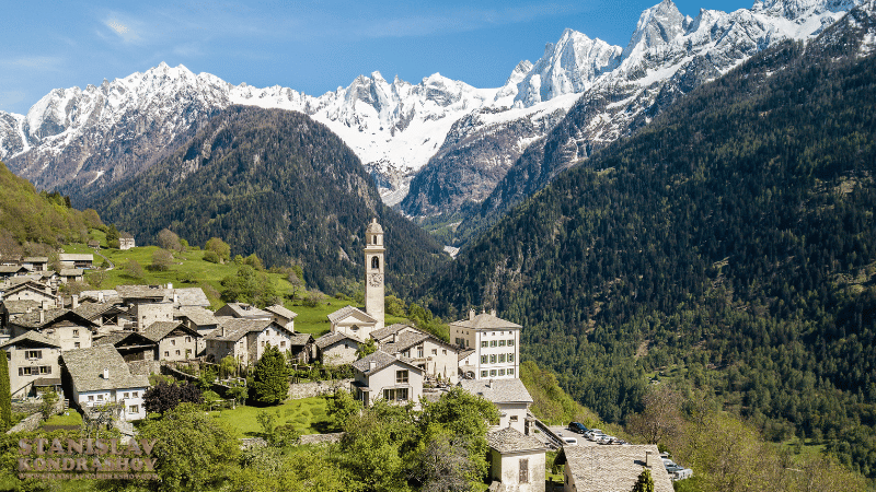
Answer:
<svg viewBox="0 0 876 492"><path fill-rule="evenodd" d="M132 375L115 347L71 350L61 354L61 362L67 394L83 410L110 403L118 407L120 420L146 418L143 394L149 378Z"/></svg>

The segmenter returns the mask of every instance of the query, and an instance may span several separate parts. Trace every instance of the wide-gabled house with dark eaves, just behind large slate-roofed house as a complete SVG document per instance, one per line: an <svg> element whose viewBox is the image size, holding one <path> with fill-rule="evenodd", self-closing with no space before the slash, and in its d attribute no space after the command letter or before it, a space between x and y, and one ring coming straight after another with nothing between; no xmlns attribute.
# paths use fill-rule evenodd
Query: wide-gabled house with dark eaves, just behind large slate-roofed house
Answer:
<svg viewBox="0 0 876 492"><path fill-rule="evenodd" d="M61 352L91 347L92 330L97 326L76 312L65 308L31 312L9 321L11 336L37 331L58 343Z"/></svg>

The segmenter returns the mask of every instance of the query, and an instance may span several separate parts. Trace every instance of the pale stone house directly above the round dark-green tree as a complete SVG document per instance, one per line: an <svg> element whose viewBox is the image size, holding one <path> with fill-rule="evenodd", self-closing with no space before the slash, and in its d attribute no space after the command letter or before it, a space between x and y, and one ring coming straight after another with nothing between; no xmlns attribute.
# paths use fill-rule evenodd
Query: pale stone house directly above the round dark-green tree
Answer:
<svg viewBox="0 0 876 492"><path fill-rule="evenodd" d="M208 362L218 363L232 355L239 364L251 365L262 359L268 344L280 352L289 350L293 332L272 319L246 319L222 317L219 327L204 337L207 343Z"/></svg>

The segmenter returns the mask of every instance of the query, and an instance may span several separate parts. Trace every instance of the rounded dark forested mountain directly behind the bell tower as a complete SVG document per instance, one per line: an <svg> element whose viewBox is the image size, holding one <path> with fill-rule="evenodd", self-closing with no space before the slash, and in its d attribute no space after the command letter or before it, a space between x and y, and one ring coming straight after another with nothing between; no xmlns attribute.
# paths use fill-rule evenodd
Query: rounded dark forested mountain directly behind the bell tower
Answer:
<svg viewBox="0 0 876 492"><path fill-rule="evenodd" d="M232 106L146 173L97 204L147 243L169 227L192 244L221 237L232 255L298 262L332 293L362 279L364 233L387 233L388 284L400 293L449 260L425 232L384 207L356 155L300 113Z"/></svg>

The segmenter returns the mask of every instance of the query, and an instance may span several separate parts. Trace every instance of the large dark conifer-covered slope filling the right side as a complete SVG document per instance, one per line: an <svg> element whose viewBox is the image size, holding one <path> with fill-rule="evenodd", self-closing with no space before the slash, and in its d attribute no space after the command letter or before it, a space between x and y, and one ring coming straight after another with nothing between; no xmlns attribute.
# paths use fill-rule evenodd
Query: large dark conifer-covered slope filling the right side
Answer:
<svg viewBox="0 0 876 492"><path fill-rule="evenodd" d="M876 58L865 10L561 175L423 290L496 307L609 421L673 365L876 477ZM866 33L871 33L865 36Z"/></svg>

